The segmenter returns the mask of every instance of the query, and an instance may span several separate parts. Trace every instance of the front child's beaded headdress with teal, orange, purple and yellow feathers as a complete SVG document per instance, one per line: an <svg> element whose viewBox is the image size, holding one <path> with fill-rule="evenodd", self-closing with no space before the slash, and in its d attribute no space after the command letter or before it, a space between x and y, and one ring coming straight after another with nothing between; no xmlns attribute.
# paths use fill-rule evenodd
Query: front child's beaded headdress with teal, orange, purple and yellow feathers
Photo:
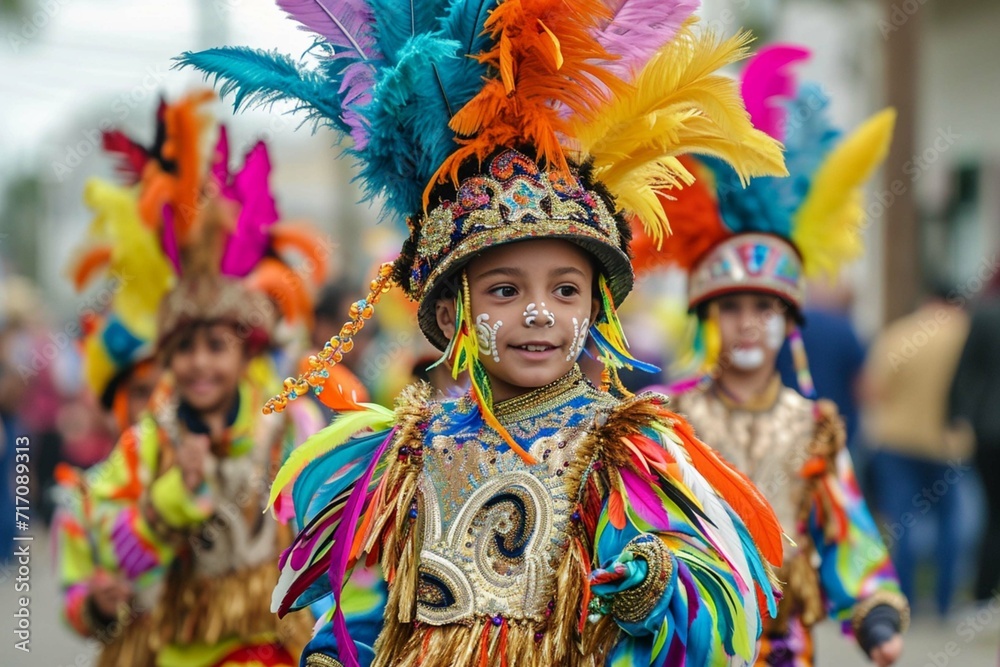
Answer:
<svg viewBox="0 0 1000 667"><path fill-rule="evenodd" d="M696 35L691 0L278 4L317 36L314 65L248 48L181 63L234 93L237 108L292 100L349 135L367 194L384 196L410 234L315 370L286 381L268 409L315 390L390 280L420 301L421 328L444 349L434 303L476 253L563 238L597 259L613 309L633 281L624 216L655 239L669 233L657 192L693 180L677 156L711 155L743 179L784 173L777 142L753 129L735 84L717 73L746 54L747 36ZM465 324L459 337L474 333ZM616 324L605 313L595 342L612 366L633 364ZM452 341L450 356L471 370L488 416L478 356L462 349Z"/></svg>

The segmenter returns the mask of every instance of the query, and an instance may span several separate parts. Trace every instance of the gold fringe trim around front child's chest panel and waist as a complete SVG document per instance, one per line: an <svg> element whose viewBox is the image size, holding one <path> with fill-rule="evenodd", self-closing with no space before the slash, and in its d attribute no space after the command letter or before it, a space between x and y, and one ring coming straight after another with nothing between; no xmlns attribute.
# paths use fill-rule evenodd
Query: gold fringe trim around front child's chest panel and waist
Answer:
<svg viewBox="0 0 1000 667"><path fill-rule="evenodd" d="M397 442L422 444L421 425L429 419L426 388L408 390L397 404ZM585 503L588 480L597 484L601 495L609 488L608 475L617 468L634 469L631 455L622 445L623 436L635 433L662 417L662 408L647 396L630 398L614 409L598 414L592 434L580 443L579 456L565 475L567 490L578 504ZM500 651L503 628L490 618L470 624L423 625L414 621L421 533L407 512L416 497L421 462L419 457L397 458L392 454L387 493L376 516L379 522L370 543L381 545L382 568L390 581L386 623L375 644L373 667L451 667L485 665L560 665L596 667L603 665L620 636L611 616L596 622L585 620L581 636L581 614L589 587L587 575L594 568L592 544L582 522L570 527L566 557L556 572L552 614L542 622L506 620L506 640ZM600 460L601 465L595 466ZM593 508L590 508L593 511ZM584 511L587 511L586 509ZM577 540L584 545L581 553ZM586 559L586 562L585 560ZM485 634L484 634L485 633ZM536 641L536 636L539 640ZM485 647L485 658L482 655ZM502 655L501 655L502 653Z"/></svg>

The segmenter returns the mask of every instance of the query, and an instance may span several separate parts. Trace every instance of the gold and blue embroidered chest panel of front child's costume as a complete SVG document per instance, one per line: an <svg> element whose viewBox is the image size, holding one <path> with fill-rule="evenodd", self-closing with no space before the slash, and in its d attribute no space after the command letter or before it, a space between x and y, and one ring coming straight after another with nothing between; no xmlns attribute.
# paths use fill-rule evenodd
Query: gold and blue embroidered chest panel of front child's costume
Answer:
<svg viewBox="0 0 1000 667"><path fill-rule="evenodd" d="M614 399L575 371L495 406L536 463L525 463L460 399L436 406L418 482L417 620L542 621L569 544L595 417Z"/></svg>

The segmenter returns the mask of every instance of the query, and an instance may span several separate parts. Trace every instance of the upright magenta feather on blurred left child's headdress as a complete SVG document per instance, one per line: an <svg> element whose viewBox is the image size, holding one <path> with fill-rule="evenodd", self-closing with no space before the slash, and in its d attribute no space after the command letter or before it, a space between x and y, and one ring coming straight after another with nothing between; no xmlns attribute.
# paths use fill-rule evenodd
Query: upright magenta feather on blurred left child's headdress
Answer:
<svg viewBox="0 0 1000 667"><path fill-rule="evenodd" d="M268 228L278 221L278 209L268 184L271 161L264 142L247 153L243 168L231 184L220 183L223 195L240 205L236 229L226 240L222 273L243 277L250 273L267 252Z"/></svg>

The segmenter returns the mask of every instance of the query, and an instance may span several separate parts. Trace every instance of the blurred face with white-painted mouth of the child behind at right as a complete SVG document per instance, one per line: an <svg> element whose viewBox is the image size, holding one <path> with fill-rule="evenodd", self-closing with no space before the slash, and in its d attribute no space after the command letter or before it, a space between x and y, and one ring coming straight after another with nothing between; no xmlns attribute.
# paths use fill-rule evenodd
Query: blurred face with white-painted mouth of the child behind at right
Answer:
<svg viewBox="0 0 1000 667"><path fill-rule="evenodd" d="M781 299L769 294L730 294L719 297L716 307L723 370L773 369L788 334L787 308Z"/></svg>

